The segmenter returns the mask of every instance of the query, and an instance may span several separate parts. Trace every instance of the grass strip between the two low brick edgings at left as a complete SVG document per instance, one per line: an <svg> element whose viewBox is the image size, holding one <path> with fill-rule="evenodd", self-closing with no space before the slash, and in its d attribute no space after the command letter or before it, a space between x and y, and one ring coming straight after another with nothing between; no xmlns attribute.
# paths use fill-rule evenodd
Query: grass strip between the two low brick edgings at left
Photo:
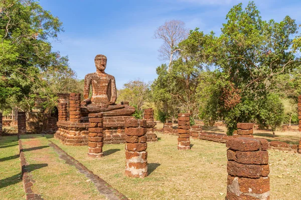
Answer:
<svg viewBox="0 0 301 200"><path fill-rule="evenodd" d="M21 140L35 193L44 199L105 199L84 174L59 158L46 137L21 135Z"/></svg>

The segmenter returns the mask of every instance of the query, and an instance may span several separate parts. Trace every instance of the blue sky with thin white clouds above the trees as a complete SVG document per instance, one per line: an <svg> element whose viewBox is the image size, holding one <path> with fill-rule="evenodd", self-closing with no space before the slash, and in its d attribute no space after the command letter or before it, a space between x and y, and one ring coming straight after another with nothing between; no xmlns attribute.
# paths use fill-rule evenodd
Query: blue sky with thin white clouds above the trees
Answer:
<svg viewBox="0 0 301 200"><path fill-rule="evenodd" d="M94 72L96 54L107 56L106 72L114 75L117 88L129 80L148 82L157 77L160 39L157 27L178 19L187 28L220 33L230 8L248 0L40 0L63 22L60 42L51 41L53 50L69 56L78 78ZM301 0L255 0L263 19L280 21L285 15L301 23Z"/></svg>

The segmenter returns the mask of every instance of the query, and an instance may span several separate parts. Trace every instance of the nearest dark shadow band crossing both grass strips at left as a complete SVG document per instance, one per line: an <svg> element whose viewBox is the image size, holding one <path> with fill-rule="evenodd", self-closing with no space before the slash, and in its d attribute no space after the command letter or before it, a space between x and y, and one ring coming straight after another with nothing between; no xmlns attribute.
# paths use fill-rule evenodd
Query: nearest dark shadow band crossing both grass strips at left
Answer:
<svg viewBox="0 0 301 200"><path fill-rule="evenodd" d="M47 163L42 163L42 164L29 164L26 166L28 169L28 172L33 171L35 169L39 169L42 167L48 166ZM16 175L13 175L11 177L7 177L4 179L0 179L0 188L7 187L13 184L16 184L18 182L22 181L22 173L17 173Z"/></svg>

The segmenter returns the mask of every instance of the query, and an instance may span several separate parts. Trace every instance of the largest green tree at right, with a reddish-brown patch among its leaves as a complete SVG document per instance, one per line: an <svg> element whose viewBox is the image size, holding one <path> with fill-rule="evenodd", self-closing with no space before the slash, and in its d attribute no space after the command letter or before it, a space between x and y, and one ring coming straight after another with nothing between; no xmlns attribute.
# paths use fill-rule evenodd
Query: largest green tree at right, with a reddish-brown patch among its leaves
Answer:
<svg viewBox="0 0 301 200"><path fill-rule="evenodd" d="M216 112L205 109L204 116L224 117L228 134L237 122L259 119L265 98L274 89L273 78L290 74L300 63L295 54L300 50L295 20L285 16L280 22L265 21L259 14L253 1L245 9L239 3L228 12L221 35L196 29L181 42L187 43L181 54L187 52L196 65L217 69L220 81L212 82L210 88L218 96L208 98L215 102Z"/></svg>

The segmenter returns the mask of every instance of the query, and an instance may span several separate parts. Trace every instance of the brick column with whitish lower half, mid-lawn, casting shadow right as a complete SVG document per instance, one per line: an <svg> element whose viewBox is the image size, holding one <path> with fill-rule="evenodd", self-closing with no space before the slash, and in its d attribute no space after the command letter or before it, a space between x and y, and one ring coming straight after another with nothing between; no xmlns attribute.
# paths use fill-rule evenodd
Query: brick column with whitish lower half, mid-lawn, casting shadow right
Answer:
<svg viewBox="0 0 301 200"><path fill-rule="evenodd" d="M125 175L130 177L147 176L146 120L125 120Z"/></svg>

